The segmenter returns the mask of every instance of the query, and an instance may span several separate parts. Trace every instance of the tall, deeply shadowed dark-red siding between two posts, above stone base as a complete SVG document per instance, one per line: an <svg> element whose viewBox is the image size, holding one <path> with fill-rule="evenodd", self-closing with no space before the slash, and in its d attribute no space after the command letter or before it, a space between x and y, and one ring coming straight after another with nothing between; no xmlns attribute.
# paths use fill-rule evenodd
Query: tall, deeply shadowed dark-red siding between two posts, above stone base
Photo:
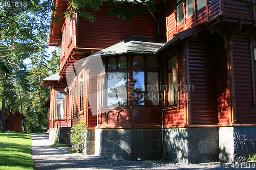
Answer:
<svg viewBox="0 0 256 170"><path fill-rule="evenodd" d="M211 36L197 36L189 41L191 123L217 124L217 89L214 42Z"/></svg>

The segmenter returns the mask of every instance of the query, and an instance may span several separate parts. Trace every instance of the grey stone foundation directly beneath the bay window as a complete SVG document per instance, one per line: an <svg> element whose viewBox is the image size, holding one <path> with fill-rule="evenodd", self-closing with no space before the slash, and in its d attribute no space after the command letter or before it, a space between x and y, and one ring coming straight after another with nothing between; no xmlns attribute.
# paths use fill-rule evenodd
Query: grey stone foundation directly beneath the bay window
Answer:
<svg viewBox="0 0 256 170"><path fill-rule="evenodd" d="M95 129L95 154L112 159L160 159L161 129Z"/></svg>

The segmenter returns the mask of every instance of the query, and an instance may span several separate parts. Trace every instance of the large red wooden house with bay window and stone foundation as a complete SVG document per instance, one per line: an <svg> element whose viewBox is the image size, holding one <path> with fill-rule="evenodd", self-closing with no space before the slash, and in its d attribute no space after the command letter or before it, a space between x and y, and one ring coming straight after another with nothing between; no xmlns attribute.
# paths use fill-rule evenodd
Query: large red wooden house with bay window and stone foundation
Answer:
<svg viewBox="0 0 256 170"><path fill-rule="evenodd" d="M49 44L61 57L60 77L42 83L52 87L50 132L59 115L61 127L86 122L85 153L114 159L233 162L255 154L251 2L157 1L157 12L131 22L108 16L103 2L95 23L51 25ZM62 18L67 4L56 5L52 15Z"/></svg>

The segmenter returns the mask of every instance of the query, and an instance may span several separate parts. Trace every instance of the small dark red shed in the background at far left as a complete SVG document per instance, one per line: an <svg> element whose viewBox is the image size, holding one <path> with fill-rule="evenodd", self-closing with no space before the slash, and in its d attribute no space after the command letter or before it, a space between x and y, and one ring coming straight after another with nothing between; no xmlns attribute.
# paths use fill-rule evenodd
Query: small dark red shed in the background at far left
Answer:
<svg viewBox="0 0 256 170"><path fill-rule="evenodd" d="M0 111L0 116L2 111ZM5 131L9 132L22 132L22 119L26 116L19 111L14 113L5 111ZM1 123L1 122L0 122Z"/></svg>

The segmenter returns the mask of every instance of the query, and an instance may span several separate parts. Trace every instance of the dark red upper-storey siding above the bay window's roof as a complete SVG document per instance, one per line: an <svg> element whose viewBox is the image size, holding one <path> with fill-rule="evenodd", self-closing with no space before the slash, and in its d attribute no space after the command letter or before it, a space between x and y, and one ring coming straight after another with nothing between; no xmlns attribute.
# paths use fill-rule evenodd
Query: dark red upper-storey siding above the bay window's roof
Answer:
<svg viewBox="0 0 256 170"><path fill-rule="evenodd" d="M132 35L157 36L158 27L150 13L142 15L137 11L138 16L132 16L131 22L127 22L122 17L108 16L110 9L104 3L101 10L95 12L96 22L82 19L78 22L79 47L106 48Z"/></svg>

